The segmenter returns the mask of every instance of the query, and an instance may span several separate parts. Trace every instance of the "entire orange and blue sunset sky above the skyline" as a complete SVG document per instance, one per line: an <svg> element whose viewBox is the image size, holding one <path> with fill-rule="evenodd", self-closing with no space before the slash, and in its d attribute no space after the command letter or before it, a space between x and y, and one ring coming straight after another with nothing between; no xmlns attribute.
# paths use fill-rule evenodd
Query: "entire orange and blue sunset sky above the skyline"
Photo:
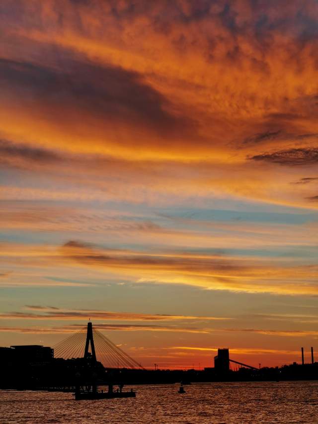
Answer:
<svg viewBox="0 0 318 424"><path fill-rule="evenodd" d="M318 360L318 1L0 1L0 345Z"/></svg>

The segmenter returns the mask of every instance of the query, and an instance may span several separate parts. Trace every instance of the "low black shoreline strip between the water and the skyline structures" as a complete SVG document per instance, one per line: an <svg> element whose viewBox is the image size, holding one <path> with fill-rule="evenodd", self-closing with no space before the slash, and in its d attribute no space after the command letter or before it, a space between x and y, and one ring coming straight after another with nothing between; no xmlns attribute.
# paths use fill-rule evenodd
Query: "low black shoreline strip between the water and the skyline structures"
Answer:
<svg viewBox="0 0 318 424"><path fill-rule="evenodd" d="M84 366L81 361L53 360L47 363L7 364L1 367L0 389L7 390L49 390L73 391L77 384L82 386L145 385L222 383L222 382L261 382L261 381L315 381L318 380L318 363L292 364L280 368L260 368L258 370L240 368L238 371L217 372L214 368L205 370L141 370L105 369Z"/></svg>

